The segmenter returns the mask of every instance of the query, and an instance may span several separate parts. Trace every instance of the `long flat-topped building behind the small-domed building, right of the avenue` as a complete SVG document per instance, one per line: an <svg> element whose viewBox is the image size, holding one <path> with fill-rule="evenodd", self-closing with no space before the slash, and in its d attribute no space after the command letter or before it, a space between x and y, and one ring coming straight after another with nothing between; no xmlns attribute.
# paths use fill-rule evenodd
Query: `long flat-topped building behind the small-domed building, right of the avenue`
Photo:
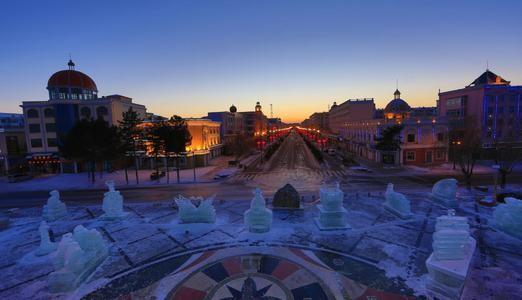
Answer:
<svg viewBox="0 0 522 300"><path fill-rule="evenodd" d="M350 99L339 105L336 102L328 112L328 127L333 134L340 134L347 122L369 120L375 113L373 98Z"/></svg>

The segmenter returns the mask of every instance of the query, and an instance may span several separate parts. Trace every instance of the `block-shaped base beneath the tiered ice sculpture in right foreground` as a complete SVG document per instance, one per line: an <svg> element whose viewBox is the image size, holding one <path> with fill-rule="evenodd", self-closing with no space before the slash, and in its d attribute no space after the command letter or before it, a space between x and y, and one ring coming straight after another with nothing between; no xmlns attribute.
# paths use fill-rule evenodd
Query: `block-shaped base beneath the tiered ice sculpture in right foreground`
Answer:
<svg viewBox="0 0 522 300"><path fill-rule="evenodd" d="M468 276L469 266L476 241L470 238L466 256L460 260L436 260L433 253L426 260L429 277L426 289L433 297L439 299L459 299Z"/></svg>

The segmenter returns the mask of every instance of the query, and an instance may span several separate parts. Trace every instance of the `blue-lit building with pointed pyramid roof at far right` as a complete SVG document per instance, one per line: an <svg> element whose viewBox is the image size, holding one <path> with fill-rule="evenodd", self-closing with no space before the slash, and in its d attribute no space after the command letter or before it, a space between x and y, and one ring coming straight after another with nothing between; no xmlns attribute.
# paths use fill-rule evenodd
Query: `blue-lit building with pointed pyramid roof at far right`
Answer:
<svg viewBox="0 0 522 300"><path fill-rule="evenodd" d="M504 141L522 145L522 86L486 70L468 86L439 93L437 109L448 118L459 139L459 127L470 117L480 130L484 148Z"/></svg>

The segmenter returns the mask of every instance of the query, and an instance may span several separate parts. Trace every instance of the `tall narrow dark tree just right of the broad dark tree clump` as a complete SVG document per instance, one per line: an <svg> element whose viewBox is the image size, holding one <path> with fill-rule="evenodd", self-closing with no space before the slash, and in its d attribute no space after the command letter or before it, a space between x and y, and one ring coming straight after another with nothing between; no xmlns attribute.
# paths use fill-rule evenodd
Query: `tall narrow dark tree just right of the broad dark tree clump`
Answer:
<svg viewBox="0 0 522 300"><path fill-rule="evenodd" d="M142 150L143 144L141 143L141 139L139 138L141 135L141 130L138 128L138 125L141 124L143 120L139 117L138 112L129 108L128 111L123 113L123 119L118 121L120 136L123 144L123 151L125 154L130 153L134 160L134 170L136 175L136 184L139 184L139 176L138 176L138 158L137 152ZM125 155L125 157L127 157ZM127 162L125 161L125 180L127 184L129 183L127 176Z"/></svg>

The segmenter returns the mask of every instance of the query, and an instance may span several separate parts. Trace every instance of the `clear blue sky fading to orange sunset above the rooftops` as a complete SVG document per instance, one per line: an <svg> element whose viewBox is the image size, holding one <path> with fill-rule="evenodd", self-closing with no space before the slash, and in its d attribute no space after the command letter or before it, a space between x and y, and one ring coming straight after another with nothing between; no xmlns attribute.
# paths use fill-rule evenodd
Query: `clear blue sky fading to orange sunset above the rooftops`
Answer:
<svg viewBox="0 0 522 300"><path fill-rule="evenodd" d="M398 86L412 106L489 65L522 85L522 1L1 1L0 112L76 69L163 116L263 111L300 122Z"/></svg>

